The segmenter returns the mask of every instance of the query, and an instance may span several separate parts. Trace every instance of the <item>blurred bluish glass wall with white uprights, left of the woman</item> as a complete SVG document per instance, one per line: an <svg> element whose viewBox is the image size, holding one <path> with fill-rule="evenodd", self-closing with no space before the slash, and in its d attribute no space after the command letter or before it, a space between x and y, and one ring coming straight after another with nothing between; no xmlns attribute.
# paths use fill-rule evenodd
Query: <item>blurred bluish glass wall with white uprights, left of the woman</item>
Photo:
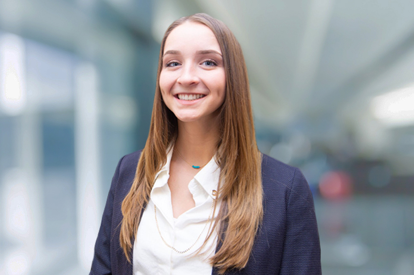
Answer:
<svg viewBox="0 0 414 275"><path fill-rule="evenodd" d="M89 273L113 172L143 146L155 88L149 1L132 24L106 2L43 4L0 26L1 275Z"/></svg>

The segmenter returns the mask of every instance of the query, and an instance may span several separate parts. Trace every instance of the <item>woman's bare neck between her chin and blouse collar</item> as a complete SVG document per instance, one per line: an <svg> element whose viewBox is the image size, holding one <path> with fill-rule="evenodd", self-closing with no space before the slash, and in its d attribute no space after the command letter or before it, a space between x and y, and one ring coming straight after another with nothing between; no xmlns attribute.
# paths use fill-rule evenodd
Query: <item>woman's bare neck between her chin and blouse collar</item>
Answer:
<svg viewBox="0 0 414 275"><path fill-rule="evenodd" d="M178 126L178 137L174 147L185 161L191 164L209 162L217 149L217 124L201 125L196 122L179 121Z"/></svg>

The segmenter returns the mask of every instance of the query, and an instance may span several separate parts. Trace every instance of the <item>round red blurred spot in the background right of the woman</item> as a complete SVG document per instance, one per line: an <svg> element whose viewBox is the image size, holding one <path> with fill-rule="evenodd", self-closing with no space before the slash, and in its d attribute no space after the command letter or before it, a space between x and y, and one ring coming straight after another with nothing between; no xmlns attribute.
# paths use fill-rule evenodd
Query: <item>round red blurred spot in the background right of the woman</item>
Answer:
<svg viewBox="0 0 414 275"><path fill-rule="evenodd" d="M319 181L319 191L326 199L343 199L351 196L352 185L352 178L348 173L331 171L322 175Z"/></svg>

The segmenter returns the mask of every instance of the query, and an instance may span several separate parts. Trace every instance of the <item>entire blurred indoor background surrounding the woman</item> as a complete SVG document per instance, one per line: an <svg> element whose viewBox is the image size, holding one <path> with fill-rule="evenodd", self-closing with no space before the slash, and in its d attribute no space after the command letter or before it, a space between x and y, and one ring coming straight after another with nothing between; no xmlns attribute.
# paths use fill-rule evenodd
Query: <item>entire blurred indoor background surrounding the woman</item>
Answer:
<svg viewBox="0 0 414 275"><path fill-rule="evenodd" d="M167 26L244 50L260 150L308 180L324 275L414 275L412 0L0 0L0 275L86 275Z"/></svg>

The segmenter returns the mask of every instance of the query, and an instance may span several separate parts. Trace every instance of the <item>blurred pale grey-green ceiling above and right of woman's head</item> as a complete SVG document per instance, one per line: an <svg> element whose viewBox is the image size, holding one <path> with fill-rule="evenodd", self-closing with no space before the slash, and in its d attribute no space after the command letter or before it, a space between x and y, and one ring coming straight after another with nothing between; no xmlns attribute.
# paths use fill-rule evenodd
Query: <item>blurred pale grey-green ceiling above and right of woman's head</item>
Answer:
<svg viewBox="0 0 414 275"><path fill-rule="evenodd" d="M412 0L158 0L155 8L158 39L199 11L234 31L256 116L271 125L332 116L379 83L367 97L414 81Z"/></svg>

